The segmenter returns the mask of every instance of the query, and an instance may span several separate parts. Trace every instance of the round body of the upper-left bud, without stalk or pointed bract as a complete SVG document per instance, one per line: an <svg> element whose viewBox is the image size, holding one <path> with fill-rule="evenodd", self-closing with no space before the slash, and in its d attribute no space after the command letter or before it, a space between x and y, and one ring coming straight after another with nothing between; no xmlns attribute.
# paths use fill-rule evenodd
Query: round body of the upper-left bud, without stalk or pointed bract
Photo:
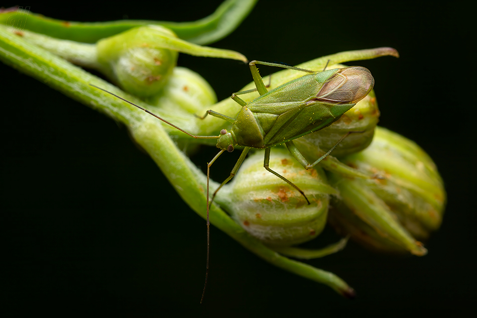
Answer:
<svg viewBox="0 0 477 318"><path fill-rule="evenodd" d="M175 35L160 26L145 26L105 38L97 43L98 62L126 91L155 95L172 74L179 54L164 48L161 37Z"/></svg>

